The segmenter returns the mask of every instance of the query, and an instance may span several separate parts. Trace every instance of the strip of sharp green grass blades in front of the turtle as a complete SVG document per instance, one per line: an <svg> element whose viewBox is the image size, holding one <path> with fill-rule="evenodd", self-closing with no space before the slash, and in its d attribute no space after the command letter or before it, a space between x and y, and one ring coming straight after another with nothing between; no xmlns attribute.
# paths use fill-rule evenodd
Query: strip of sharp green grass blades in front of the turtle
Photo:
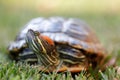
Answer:
<svg viewBox="0 0 120 80"><path fill-rule="evenodd" d="M72 76L70 72L66 73L44 73L39 72L34 66L28 64L7 62L0 64L1 80L113 80L120 79L120 75L113 68L108 68L104 73L98 72L87 74L86 72L78 73Z"/></svg>

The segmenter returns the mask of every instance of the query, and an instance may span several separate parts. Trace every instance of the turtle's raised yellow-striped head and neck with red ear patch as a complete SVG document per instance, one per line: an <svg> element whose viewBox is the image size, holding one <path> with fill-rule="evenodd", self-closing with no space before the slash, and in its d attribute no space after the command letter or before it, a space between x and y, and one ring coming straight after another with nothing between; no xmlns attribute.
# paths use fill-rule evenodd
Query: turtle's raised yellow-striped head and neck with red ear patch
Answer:
<svg viewBox="0 0 120 80"><path fill-rule="evenodd" d="M40 64L44 66L58 64L58 53L54 42L49 37L29 29L25 39L28 47L36 54Z"/></svg>

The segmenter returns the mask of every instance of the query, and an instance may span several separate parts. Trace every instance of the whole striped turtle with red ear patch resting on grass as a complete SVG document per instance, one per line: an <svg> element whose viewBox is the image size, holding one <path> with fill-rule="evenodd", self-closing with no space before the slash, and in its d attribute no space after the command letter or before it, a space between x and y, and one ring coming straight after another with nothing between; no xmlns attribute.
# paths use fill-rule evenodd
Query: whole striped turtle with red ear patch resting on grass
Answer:
<svg viewBox="0 0 120 80"><path fill-rule="evenodd" d="M95 32L78 18L30 20L8 46L13 60L52 72L80 72L104 65L106 51Z"/></svg>

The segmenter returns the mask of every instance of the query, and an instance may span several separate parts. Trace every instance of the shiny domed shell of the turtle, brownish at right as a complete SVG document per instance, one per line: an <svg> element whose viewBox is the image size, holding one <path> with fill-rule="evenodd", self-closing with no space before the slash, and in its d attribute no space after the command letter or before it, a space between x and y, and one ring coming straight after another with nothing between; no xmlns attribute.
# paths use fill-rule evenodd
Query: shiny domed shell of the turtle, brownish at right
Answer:
<svg viewBox="0 0 120 80"><path fill-rule="evenodd" d="M19 32L15 41L9 45L9 53L15 60L24 61L27 59L33 63L37 61L36 55L26 46L25 37L29 29L48 36L57 46L66 45L80 50L86 56L88 63L92 63L94 66L100 64L105 56L98 38L85 22L75 18L40 17L28 22ZM72 55L79 56L78 54ZM77 68L82 67L73 65L69 67L69 70L74 72L76 69L78 71ZM64 71L64 69L67 68L64 67L60 71Z"/></svg>

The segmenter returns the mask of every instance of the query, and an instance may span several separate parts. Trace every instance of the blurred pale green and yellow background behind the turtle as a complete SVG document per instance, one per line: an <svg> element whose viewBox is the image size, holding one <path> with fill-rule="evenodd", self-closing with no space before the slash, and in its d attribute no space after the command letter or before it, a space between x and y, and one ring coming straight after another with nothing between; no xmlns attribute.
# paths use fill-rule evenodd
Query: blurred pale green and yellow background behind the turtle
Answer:
<svg viewBox="0 0 120 80"><path fill-rule="evenodd" d="M80 18L108 53L120 54L120 0L0 0L0 61L22 26L41 16Z"/></svg>

